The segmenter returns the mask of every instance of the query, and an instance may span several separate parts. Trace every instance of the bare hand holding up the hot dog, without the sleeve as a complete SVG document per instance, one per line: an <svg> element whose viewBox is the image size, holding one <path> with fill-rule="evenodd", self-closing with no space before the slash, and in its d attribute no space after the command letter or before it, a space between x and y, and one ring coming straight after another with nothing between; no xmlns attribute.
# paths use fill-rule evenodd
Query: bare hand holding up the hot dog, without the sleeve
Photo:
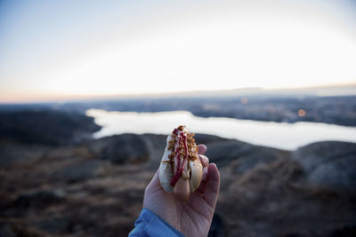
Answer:
<svg viewBox="0 0 356 237"><path fill-rule="evenodd" d="M145 189L143 207L150 209L185 236L207 236L219 195L220 173L214 163L204 155L205 145L198 146L204 176L198 190L190 194L186 203L178 201L173 193L166 193L159 183L159 175Z"/></svg>

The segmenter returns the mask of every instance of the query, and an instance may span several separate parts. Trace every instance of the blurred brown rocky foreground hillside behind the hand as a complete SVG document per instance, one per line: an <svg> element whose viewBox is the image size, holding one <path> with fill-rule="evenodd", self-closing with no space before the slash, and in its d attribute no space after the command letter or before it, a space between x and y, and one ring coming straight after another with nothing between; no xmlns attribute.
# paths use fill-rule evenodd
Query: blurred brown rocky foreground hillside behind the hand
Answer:
<svg viewBox="0 0 356 237"><path fill-rule="evenodd" d="M69 139L70 140L70 139ZM356 236L356 144L294 152L198 134L221 172L209 236ZM127 236L166 136L0 139L0 236Z"/></svg>

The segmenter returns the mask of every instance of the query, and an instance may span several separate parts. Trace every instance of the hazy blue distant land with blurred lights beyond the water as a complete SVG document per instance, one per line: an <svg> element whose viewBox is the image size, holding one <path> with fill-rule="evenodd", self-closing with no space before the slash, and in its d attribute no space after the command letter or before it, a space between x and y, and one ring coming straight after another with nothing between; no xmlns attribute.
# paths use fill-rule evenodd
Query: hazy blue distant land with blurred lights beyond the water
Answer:
<svg viewBox="0 0 356 237"><path fill-rule="evenodd" d="M0 111L54 109L84 114L89 108L108 111L160 112L185 110L201 117L230 117L271 122L325 122L356 126L356 95L317 96L327 90L191 92L185 94L66 103L0 105ZM354 88L349 88L354 90ZM337 94L337 93L336 93Z"/></svg>

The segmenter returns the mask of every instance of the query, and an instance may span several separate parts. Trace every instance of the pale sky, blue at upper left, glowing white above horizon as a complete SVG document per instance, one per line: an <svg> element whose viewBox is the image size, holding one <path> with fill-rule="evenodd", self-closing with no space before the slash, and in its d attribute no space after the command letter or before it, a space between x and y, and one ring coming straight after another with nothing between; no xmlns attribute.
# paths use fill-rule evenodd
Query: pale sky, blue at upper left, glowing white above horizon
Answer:
<svg viewBox="0 0 356 237"><path fill-rule="evenodd" d="M0 103L356 84L356 1L0 2Z"/></svg>

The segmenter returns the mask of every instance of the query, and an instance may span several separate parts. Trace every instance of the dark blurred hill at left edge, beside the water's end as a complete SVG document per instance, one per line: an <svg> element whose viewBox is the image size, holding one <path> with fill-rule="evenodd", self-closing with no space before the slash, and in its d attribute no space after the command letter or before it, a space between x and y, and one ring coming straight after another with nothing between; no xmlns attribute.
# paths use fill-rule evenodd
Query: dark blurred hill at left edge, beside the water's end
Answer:
<svg viewBox="0 0 356 237"><path fill-rule="evenodd" d="M0 139L27 144L69 145L100 130L92 117L52 109L0 112Z"/></svg>

